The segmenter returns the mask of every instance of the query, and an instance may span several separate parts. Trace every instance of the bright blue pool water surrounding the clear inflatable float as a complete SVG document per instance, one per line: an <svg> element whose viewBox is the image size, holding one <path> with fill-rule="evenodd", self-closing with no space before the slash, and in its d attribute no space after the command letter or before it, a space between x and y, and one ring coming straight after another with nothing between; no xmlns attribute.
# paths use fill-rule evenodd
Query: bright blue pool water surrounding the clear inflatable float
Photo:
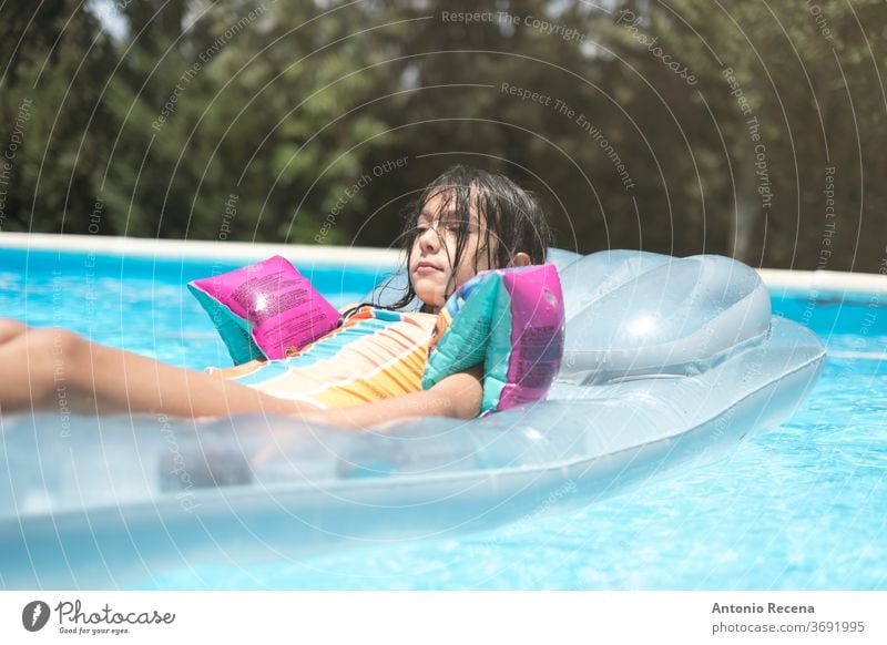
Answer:
<svg viewBox="0 0 887 645"><path fill-rule="evenodd" d="M236 265L0 250L0 315L184 367L230 365L184 284ZM94 265L94 266L93 266ZM299 267L336 305L390 267ZM202 566L143 588L887 588L887 296L774 294L828 346L784 426L707 467L459 539Z"/></svg>

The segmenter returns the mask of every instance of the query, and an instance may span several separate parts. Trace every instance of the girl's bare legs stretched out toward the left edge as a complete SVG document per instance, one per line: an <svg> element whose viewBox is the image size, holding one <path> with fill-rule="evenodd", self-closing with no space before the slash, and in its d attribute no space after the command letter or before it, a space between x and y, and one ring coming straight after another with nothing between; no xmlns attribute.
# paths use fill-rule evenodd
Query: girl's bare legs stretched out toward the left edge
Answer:
<svg viewBox="0 0 887 645"><path fill-rule="evenodd" d="M58 328L7 328L0 338L0 413L58 409L217 417L244 412L316 413L210 375L86 341ZM2 332L2 328L0 328Z"/></svg>

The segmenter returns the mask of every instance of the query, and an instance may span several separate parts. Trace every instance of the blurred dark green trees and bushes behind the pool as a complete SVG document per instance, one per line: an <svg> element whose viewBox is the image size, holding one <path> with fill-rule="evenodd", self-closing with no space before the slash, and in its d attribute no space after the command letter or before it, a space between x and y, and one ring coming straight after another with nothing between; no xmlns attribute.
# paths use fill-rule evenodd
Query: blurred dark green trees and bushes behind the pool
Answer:
<svg viewBox="0 0 887 645"><path fill-rule="evenodd" d="M387 246L463 162L582 253L887 266L881 0L7 0L0 48L2 231Z"/></svg>

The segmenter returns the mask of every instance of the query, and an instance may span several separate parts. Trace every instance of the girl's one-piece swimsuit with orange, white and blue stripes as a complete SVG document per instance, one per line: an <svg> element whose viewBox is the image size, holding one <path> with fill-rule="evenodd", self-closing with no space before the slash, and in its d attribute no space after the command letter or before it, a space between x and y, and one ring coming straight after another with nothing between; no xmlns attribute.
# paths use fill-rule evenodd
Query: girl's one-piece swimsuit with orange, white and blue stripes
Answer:
<svg viewBox="0 0 887 645"><path fill-rule="evenodd" d="M365 305L296 356L268 360L246 372L242 366L220 373L271 396L322 409L418 392L436 321L434 314Z"/></svg>

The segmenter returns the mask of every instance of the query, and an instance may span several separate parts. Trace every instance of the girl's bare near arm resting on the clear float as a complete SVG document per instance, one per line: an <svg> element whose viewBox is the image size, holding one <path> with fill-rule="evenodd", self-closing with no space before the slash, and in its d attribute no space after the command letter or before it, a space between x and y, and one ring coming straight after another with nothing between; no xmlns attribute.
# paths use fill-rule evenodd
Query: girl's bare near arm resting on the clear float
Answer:
<svg viewBox="0 0 887 645"><path fill-rule="evenodd" d="M306 417L320 423L365 430L386 421L409 417L455 417L473 419L480 413L483 398L483 366L442 379L421 392L404 395L373 403L308 412Z"/></svg>

